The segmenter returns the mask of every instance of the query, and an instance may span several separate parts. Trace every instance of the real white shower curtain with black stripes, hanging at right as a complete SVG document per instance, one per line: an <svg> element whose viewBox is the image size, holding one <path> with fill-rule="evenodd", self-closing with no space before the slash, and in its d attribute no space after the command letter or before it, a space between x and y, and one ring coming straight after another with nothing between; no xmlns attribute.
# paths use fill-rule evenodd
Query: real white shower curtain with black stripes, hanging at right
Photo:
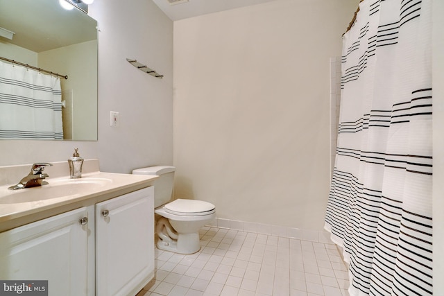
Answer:
<svg viewBox="0 0 444 296"><path fill-rule="evenodd" d="M432 295L431 1L364 0L343 39L325 229L350 295Z"/></svg>

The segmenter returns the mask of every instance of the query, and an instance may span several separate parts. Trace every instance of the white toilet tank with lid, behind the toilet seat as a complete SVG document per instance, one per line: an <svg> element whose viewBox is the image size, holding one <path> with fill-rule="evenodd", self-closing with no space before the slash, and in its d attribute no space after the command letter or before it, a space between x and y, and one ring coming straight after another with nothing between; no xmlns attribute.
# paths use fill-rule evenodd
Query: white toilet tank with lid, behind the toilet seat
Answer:
<svg viewBox="0 0 444 296"><path fill-rule="evenodd" d="M167 204L173 198L174 166L148 166L133 170L133 175L158 175L154 180L154 207Z"/></svg>

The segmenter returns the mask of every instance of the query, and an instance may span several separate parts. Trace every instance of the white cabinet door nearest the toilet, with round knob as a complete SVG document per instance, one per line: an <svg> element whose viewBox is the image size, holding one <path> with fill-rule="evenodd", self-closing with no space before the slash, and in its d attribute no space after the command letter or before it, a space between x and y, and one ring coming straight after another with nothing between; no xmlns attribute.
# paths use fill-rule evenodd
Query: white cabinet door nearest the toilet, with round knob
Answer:
<svg viewBox="0 0 444 296"><path fill-rule="evenodd" d="M96 295L135 295L154 277L153 186L96 204Z"/></svg>

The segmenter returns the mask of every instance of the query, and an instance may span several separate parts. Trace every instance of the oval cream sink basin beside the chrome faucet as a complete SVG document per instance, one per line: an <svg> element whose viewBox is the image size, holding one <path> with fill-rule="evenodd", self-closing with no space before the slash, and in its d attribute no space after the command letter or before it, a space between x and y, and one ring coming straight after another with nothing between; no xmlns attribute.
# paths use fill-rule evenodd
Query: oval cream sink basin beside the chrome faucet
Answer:
<svg viewBox="0 0 444 296"><path fill-rule="evenodd" d="M74 198L76 195L85 195L92 191L97 191L101 187L110 184L112 180L106 178L85 178L85 179L53 179L48 180L49 184L31 188L10 191L5 189L0 193L0 204L18 204L23 202L39 202L54 198Z"/></svg>

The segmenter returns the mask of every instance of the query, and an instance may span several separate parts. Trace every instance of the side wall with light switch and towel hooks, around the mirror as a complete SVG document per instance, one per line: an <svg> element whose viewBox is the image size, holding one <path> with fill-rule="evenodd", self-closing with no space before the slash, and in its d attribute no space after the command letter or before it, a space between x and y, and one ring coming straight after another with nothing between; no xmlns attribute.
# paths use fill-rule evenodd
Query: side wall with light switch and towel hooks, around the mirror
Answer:
<svg viewBox="0 0 444 296"><path fill-rule="evenodd" d="M60 162L78 147L99 158L101 171L173 164L173 22L152 1L95 0L99 21L99 141L1 140L0 166ZM151 65L163 79L132 67L126 58ZM110 111L120 112L119 128ZM51 177L51 176L50 176Z"/></svg>

